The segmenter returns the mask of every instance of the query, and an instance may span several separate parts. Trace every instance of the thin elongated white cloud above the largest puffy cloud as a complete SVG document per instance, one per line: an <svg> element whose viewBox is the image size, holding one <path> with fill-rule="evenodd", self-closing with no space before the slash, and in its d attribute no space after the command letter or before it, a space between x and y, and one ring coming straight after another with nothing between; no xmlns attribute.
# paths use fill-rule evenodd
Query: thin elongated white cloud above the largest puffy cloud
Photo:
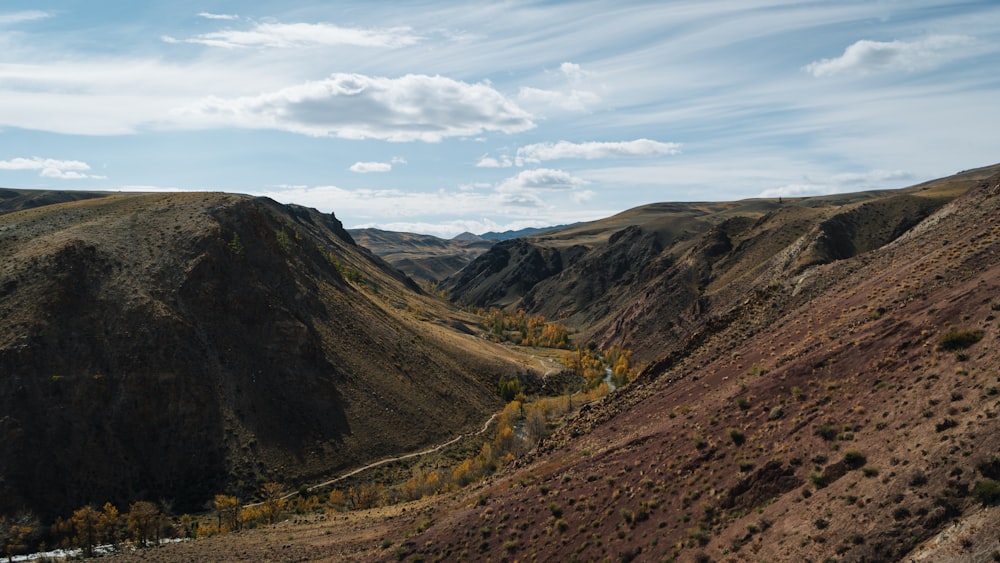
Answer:
<svg viewBox="0 0 1000 563"><path fill-rule="evenodd" d="M203 16L205 17L205 16ZM227 19L217 17L215 19ZM329 23L258 23L249 30L224 29L187 39L164 36L167 43L196 43L228 49L238 47L405 47L421 40L409 27L361 29Z"/></svg>

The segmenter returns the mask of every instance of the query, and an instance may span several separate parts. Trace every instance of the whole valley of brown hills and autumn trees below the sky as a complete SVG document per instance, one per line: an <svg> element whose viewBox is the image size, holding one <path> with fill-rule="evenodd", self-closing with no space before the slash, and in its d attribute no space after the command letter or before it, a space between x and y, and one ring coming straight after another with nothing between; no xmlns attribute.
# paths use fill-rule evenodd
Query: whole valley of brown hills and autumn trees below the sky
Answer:
<svg viewBox="0 0 1000 563"><path fill-rule="evenodd" d="M396 253L248 196L0 195L0 513L283 487L116 559L1000 557L1000 165Z"/></svg>

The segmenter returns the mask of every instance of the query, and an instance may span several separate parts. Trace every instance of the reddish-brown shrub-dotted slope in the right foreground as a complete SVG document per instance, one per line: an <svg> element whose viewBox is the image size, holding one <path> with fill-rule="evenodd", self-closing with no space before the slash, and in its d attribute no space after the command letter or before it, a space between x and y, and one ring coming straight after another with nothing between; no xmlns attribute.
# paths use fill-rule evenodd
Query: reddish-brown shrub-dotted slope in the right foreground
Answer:
<svg viewBox="0 0 1000 563"><path fill-rule="evenodd" d="M998 218L994 176L883 248L755 291L404 549L896 560L976 518L954 548L990 553L1000 515L971 491L1000 452ZM948 350L953 329L983 338Z"/></svg>

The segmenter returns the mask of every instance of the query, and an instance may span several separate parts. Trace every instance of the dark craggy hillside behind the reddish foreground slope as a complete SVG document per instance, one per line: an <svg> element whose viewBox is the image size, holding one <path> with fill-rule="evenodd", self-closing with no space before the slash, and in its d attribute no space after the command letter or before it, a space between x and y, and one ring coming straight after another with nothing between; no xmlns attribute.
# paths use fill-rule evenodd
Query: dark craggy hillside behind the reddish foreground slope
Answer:
<svg viewBox="0 0 1000 563"><path fill-rule="evenodd" d="M652 360L778 279L895 240L997 170L903 190L647 205L498 243L442 287L460 305L522 308Z"/></svg>

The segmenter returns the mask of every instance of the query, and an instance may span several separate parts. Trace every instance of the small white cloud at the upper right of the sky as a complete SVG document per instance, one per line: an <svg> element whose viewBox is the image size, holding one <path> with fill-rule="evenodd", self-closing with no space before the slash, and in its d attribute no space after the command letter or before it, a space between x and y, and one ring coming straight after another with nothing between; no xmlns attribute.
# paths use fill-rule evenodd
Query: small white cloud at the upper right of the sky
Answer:
<svg viewBox="0 0 1000 563"><path fill-rule="evenodd" d="M931 35L917 41L862 39L847 47L843 55L812 62L804 69L816 77L912 72L961 57L974 44L975 40L966 35Z"/></svg>

